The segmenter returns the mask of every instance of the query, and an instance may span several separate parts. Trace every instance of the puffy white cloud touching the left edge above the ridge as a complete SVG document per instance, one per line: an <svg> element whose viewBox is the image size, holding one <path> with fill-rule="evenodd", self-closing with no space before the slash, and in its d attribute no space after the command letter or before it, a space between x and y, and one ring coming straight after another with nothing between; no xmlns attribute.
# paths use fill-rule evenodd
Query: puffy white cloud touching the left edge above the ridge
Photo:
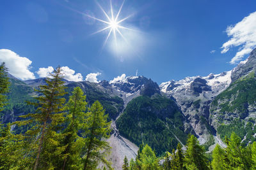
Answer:
<svg viewBox="0 0 256 170"><path fill-rule="evenodd" d="M35 75L30 69L32 63L26 57L20 57L17 53L8 49L0 49L0 62L5 62L9 73L21 80L34 79Z"/></svg>

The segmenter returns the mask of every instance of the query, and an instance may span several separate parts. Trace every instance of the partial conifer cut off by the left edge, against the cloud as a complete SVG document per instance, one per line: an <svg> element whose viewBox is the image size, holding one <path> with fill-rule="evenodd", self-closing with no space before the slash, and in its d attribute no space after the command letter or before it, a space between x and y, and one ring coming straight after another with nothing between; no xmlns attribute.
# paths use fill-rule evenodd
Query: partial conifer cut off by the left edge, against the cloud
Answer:
<svg viewBox="0 0 256 170"><path fill-rule="evenodd" d="M6 94L9 91L10 81L8 78L7 68L4 62L0 64L0 111L3 110L3 106L6 105Z"/></svg>

